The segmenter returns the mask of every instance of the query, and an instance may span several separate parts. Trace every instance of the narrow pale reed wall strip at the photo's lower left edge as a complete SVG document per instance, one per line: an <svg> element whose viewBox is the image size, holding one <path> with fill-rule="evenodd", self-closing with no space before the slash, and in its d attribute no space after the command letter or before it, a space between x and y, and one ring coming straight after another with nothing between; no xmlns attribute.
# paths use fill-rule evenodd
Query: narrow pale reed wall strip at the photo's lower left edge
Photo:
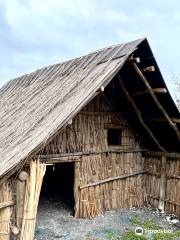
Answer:
<svg viewBox="0 0 180 240"><path fill-rule="evenodd" d="M0 203L7 202L12 202L12 189L9 181L6 181L0 187ZM7 205L0 209L0 240L10 239L11 213L11 206Z"/></svg>

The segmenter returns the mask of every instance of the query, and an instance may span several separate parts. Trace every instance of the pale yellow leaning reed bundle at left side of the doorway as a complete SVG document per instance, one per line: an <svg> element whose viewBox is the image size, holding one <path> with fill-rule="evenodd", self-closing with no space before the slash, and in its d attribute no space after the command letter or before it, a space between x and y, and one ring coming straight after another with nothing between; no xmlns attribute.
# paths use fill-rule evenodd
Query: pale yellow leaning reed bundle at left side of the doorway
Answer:
<svg viewBox="0 0 180 240"><path fill-rule="evenodd" d="M30 175L27 179L20 240L33 240L39 195L46 166L37 161L30 162Z"/></svg>

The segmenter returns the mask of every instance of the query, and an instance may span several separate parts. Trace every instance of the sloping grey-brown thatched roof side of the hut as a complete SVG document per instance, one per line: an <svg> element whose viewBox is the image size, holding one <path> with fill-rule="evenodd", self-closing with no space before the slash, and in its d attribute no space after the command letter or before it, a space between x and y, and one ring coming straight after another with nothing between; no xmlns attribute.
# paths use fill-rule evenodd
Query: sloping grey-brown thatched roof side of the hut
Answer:
<svg viewBox="0 0 180 240"><path fill-rule="evenodd" d="M140 39L42 68L1 88L0 176L43 147L97 95L101 86L111 82L129 56L144 43L146 47L140 51L146 54L147 40ZM160 80L156 79L156 83L162 84L162 76L157 74ZM169 93L163 101L168 111L179 117Z"/></svg>

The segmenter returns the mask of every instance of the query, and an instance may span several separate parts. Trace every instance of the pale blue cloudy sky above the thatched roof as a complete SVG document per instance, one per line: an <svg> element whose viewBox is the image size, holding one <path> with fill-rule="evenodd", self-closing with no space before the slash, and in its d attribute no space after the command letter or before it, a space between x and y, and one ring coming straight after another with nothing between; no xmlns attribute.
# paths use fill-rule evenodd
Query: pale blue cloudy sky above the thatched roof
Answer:
<svg viewBox="0 0 180 240"><path fill-rule="evenodd" d="M141 37L148 38L170 87L180 77L179 0L0 0L0 86Z"/></svg>

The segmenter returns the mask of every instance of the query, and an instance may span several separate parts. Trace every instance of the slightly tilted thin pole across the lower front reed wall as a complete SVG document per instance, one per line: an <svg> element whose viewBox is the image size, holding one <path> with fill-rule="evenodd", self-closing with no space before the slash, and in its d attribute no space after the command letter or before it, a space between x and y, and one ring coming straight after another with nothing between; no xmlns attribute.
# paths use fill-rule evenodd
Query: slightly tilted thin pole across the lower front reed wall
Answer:
<svg viewBox="0 0 180 240"><path fill-rule="evenodd" d="M123 174L121 176L111 177L111 178L103 179L103 180L100 180L100 181L97 181L97 182L88 183L88 184L79 186L79 188L83 189L83 188L87 188L87 187L97 186L99 184L112 182L112 181L120 180L120 179L125 179L125 178L129 178L129 177L134 177L134 176L137 176L137 175L140 175L140 174L145 174L147 172L148 172L147 170L142 170L142 171L133 172L133 173L129 173L129 174Z"/></svg>

